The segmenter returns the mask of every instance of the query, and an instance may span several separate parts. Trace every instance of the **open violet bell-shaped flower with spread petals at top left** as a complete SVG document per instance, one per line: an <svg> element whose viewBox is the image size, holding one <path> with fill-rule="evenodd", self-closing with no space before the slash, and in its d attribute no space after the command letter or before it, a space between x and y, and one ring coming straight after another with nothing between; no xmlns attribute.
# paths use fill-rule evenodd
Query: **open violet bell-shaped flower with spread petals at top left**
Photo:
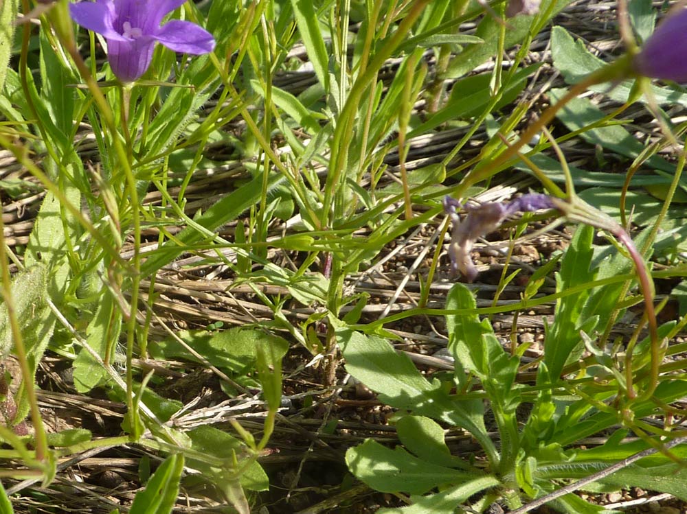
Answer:
<svg viewBox="0 0 687 514"><path fill-rule="evenodd" d="M209 54L215 45L210 32L190 21L162 19L185 0L95 0L69 5L74 21L102 34L110 67L122 82L146 73L155 42L183 54Z"/></svg>

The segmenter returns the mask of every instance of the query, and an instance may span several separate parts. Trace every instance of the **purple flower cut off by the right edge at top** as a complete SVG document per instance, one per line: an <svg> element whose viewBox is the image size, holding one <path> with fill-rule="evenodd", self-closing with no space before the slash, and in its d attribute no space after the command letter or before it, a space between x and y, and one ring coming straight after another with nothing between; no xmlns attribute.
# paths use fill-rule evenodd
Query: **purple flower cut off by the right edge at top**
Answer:
<svg viewBox="0 0 687 514"><path fill-rule="evenodd" d="M652 78L687 82L687 9L680 9L658 25L635 56L638 73Z"/></svg>

